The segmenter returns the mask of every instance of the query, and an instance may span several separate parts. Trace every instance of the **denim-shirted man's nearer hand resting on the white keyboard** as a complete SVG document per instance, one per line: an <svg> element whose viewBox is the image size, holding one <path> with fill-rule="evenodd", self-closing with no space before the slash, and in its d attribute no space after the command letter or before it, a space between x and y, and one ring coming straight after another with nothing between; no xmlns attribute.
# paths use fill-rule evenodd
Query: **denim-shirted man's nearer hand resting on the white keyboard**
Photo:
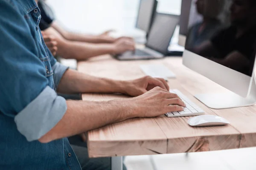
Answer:
<svg viewBox="0 0 256 170"><path fill-rule="evenodd" d="M132 98L131 103L131 111L134 111L136 117L155 117L167 112L183 111L186 107L177 94L172 94L160 87Z"/></svg>

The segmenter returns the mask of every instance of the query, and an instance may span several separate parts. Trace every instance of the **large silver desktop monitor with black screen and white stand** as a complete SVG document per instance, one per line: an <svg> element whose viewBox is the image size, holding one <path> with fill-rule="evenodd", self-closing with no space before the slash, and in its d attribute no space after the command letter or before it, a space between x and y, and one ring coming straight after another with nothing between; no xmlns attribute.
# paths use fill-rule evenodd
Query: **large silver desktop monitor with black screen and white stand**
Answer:
<svg viewBox="0 0 256 170"><path fill-rule="evenodd" d="M189 26L183 65L227 88L229 94L198 94L209 108L234 108L256 103L255 0L198 0L192 3L205 18ZM199 18L198 18L199 19Z"/></svg>

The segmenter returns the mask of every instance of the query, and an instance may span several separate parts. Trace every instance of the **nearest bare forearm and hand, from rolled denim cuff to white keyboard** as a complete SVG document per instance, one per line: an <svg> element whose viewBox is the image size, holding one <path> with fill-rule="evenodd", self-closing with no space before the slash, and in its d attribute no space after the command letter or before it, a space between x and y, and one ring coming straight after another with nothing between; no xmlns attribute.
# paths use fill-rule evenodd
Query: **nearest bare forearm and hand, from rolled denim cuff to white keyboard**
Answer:
<svg viewBox="0 0 256 170"><path fill-rule="evenodd" d="M73 136L115 122L134 117L155 117L170 111L182 111L185 104L162 88L154 88L142 96L108 102L67 101L67 112L63 119L39 142Z"/></svg>

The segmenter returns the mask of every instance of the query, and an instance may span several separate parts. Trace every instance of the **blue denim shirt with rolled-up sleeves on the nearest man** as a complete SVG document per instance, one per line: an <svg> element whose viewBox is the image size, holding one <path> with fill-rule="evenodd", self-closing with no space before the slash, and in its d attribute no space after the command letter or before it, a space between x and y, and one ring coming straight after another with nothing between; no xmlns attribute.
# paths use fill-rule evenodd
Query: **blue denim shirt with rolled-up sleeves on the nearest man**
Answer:
<svg viewBox="0 0 256 170"><path fill-rule="evenodd" d="M68 69L44 43L34 0L0 0L0 170L81 170L67 138L38 142L64 116Z"/></svg>

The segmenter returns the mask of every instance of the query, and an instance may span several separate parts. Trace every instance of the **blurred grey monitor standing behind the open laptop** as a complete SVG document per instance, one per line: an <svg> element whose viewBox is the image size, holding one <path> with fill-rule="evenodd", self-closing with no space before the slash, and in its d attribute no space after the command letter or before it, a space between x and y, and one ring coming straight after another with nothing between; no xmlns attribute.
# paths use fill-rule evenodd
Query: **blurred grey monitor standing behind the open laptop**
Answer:
<svg viewBox="0 0 256 170"><path fill-rule="evenodd" d="M147 34L152 26L157 11L157 0L140 0L136 28Z"/></svg>

